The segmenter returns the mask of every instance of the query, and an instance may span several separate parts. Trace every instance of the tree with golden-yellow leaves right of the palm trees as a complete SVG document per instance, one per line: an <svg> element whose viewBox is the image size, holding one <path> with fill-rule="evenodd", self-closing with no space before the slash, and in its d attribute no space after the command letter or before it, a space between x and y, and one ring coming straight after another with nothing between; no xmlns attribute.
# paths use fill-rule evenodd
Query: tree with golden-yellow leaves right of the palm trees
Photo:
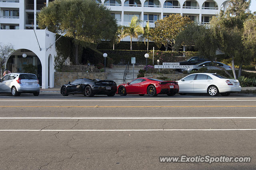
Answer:
<svg viewBox="0 0 256 170"><path fill-rule="evenodd" d="M188 17L183 17L180 14L172 14L162 20L157 20L155 28L150 29L150 40L154 41L158 47L164 45L165 51L168 47L174 51L176 36L189 22Z"/></svg>

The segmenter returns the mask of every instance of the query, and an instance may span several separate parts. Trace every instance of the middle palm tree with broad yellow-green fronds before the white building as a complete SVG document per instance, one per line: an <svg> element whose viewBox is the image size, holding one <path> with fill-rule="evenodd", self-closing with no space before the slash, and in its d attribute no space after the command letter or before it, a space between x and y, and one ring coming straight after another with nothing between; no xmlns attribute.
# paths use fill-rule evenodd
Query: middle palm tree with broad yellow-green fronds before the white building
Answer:
<svg viewBox="0 0 256 170"><path fill-rule="evenodd" d="M138 38L138 35L144 33L143 27L140 25L141 21L137 16L133 16L128 27L124 27L124 37L130 36L132 50L132 38Z"/></svg>

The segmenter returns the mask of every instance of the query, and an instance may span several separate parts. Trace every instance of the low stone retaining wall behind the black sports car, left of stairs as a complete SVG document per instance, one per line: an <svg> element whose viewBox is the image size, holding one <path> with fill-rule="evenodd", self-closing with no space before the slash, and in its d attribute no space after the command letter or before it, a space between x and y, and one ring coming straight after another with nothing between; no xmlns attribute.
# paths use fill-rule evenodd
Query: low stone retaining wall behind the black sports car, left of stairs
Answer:
<svg viewBox="0 0 256 170"><path fill-rule="evenodd" d="M106 80L108 73L105 72L54 72L54 87L61 87L63 84L72 82L77 78L99 78Z"/></svg>

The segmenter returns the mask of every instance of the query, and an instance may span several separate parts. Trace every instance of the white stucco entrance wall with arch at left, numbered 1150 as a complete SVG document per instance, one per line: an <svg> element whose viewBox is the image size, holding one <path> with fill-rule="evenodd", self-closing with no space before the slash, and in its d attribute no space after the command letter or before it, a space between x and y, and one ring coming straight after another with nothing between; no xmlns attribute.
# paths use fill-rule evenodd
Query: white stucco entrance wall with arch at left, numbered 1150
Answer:
<svg viewBox="0 0 256 170"><path fill-rule="evenodd" d="M2 45L10 43L14 46L14 50L28 49L37 55L42 64L42 88L48 88L48 57L50 56L50 87L54 87L54 56L56 55L54 43L55 33L52 33L45 29L37 29L35 31L36 35L34 33L34 30L32 29L1 29L0 43ZM39 49L36 36L38 38L39 45L42 49L41 51ZM46 48L48 48L52 43L53 45L51 49L48 49L46 51Z"/></svg>

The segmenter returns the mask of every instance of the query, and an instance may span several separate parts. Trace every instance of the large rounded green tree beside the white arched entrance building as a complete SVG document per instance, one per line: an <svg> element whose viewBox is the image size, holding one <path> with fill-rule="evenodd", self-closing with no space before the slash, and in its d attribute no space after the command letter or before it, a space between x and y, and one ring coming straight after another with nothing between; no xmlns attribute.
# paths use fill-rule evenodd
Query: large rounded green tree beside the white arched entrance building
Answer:
<svg viewBox="0 0 256 170"><path fill-rule="evenodd" d="M38 14L38 25L54 33L74 38L75 64L78 61L78 44L81 40L98 43L112 39L117 30L111 11L92 0L55 0Z"/></svg>

